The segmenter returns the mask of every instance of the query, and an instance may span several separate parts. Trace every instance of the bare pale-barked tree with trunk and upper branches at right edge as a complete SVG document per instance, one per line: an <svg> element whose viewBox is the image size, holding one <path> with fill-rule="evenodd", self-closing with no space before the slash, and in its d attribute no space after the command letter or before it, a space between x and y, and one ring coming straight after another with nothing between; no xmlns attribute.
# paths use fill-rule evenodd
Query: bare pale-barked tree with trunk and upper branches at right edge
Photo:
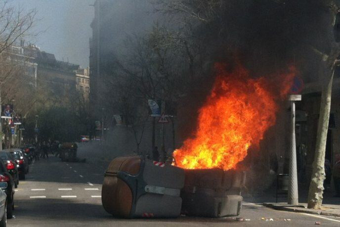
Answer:
<svg viewBox="0 0 340 227"><path fill-rule="evenodd" d="M337 14L340 12L340 8L335 0L324 0L320 6L320 10L323 10L326 14L326 19L322 26L324 26L327 31L325 40L328 41L327 47L329 47L330 51L324 52L324 50L318 50L317 48L312 47L322 60L319 72L322 82L320 115L316 137L315 157L312 165L313 170L308 192L308 208L313 209L321 209L322 205L324 190L323 182L325 180L324 163L331 110L332 84L335 68L340 65L340 61L338 60L340 55L340 44L336 42L334 38L334 25Z"/></svg>

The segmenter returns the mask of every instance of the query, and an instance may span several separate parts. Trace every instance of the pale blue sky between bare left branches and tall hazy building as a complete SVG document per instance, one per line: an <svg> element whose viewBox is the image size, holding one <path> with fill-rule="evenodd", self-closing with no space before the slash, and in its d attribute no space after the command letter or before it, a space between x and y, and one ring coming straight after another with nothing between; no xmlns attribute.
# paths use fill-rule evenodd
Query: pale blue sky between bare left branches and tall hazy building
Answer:
<svg viewBox="0 0 340 227"><path fill-rule="evenodd" d="M36 8L37 22L33 33L26 38L41 50L52 53L58 60L88 66L90 23L94 17L94 0L10 0L25 10Z"/></svg>

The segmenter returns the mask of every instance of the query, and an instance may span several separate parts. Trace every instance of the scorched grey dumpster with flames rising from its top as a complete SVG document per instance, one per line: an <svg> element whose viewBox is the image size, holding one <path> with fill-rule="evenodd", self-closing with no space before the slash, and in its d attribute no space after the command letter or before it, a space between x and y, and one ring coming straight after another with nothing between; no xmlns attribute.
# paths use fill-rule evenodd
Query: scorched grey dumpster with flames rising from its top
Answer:
<svg viewBox="0 0 340 227"><path fill-rule="evenodd" d="M199 217L238 216L245 174L235 170L185 170L182 213Z"/></svg>

